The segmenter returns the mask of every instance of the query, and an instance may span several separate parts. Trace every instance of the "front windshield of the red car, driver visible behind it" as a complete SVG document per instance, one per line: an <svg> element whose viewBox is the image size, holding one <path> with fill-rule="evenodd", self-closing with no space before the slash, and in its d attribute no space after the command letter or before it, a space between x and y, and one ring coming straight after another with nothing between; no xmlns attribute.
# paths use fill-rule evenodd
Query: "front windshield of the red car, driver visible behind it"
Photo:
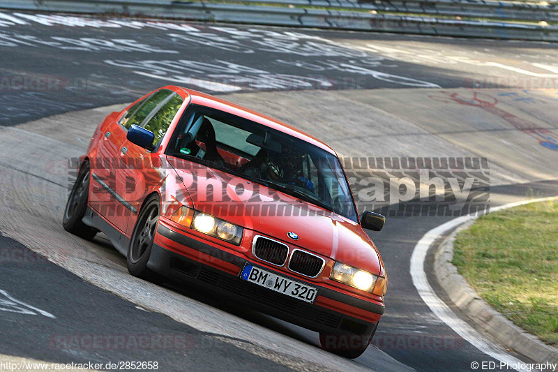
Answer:
<svg viewBox="0 0 558 372"><path fill-rule="evenodd" d="M190 105L176 126L166 152L358 221L337 156L254 121Z"/></svg>

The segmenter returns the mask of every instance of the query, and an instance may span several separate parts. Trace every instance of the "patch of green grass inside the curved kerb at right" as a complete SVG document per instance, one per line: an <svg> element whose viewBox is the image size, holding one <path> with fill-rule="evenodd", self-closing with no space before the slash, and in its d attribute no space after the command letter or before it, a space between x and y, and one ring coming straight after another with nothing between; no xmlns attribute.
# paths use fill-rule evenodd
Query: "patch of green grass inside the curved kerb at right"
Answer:
<svg viewBox="0 0 558 372"><path fill-rule="evenodd" d="M558 202L497 211L458 234L453 265L497 311L558 345Z"/></svg>

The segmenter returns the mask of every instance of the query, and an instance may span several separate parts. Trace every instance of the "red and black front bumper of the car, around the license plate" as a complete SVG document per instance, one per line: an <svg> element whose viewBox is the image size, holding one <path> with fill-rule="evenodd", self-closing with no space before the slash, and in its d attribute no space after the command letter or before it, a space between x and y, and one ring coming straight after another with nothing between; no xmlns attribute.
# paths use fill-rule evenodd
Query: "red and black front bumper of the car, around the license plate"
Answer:
<svg viewBox="0 0 558 372"><path fill-rule="evenodd" d="M199 237L174 231L163 223L159 224L157 233L148 262L150 269L179 281L193 283L197 288L232 297L237 303L240 301L242 306L295 325L324 334L369 336L384 313L384 306L321 286L317 287L318 295L314 304L273 292L242 280L239 278L240 271L249 263L281 276L285 276L285 272L265 267L262 262L248 260L241 253L236 255L219 249ZM301 281L300 278L293 279ZM305 283L316 287L316 283Z"/></svg>

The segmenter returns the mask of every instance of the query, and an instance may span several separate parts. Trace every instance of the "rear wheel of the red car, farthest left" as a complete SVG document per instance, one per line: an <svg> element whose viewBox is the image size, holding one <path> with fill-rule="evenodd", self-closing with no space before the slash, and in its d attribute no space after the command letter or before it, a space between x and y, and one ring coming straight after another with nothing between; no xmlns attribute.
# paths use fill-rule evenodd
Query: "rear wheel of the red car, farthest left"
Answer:
<svg viewBox="0 0 558 372"><path fill-rule="evenodd" d="M90 175L89 161L85 161L77 174L72 191L68 195L68 202L66 202L62 218L64 230L88 240L93 239L98 232L98 230L82 222L87 207L87 198L89 198Z"/></svg>

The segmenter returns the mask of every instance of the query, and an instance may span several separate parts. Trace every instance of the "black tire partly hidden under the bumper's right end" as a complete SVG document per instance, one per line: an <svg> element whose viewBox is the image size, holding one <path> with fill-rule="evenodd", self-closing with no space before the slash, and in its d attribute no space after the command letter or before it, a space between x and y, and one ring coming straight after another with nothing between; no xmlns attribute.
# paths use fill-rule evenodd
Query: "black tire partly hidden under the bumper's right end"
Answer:
<svg viewBox="0 0 558 372"><path fill-rule="evenodd" d="M363 355L368 345L372 341L372 337L376 333L378 324L374 327L370 336L360 334L319 334L319 343L322 349L332 352L340 357L355 359Z"/></svg>

